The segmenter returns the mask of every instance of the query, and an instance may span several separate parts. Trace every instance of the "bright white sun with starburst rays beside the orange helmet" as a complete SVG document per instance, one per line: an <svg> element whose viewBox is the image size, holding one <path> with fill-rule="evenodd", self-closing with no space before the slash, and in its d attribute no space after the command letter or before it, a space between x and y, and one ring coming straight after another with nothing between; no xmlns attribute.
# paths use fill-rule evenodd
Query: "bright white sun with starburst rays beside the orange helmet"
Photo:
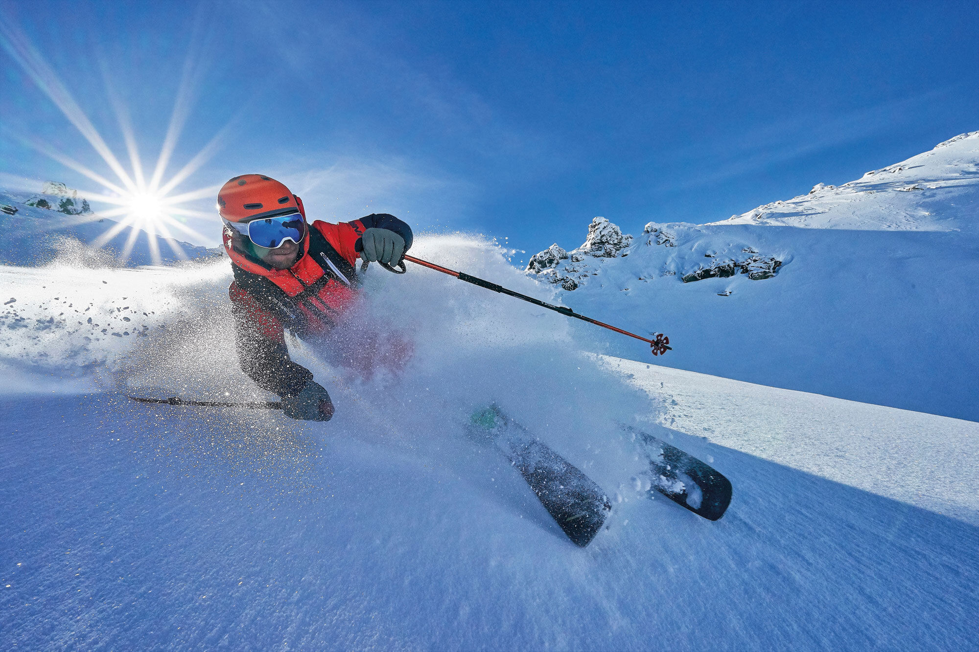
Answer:
<svg viewBox="0 0 979 652"><path fill-rule="evenodd" d="M102 187L101 191L86 191L79 189L79 195L93 204L109 207L96 213L82 214L76 217L77 222L95 221L103 218L118 218L117 223L99 236L92 245L105 247L125 229L129 229L125 244L118 257L127 259L136 244L141 232L146 232L150 248L150 256L155 264L162 261L159 240L161 236L173 252L173 256L186 259L187 255L174 238L174 232L191 236L198 241L205 240L204 236L188 226L188 217L213 219L213 213L191 208L192 203L213 197L219 186L210 186L198 190L172 194L174 190L206 163L217 149L217 144L227 130L227 126L218 132L200 152L183 165L169 178L164 178L166 167L173 155L174 148L189 116L191 104L191 88L195 85L194 78L200 70L195 66L195 58L188 56L184 65L180 87L174 101L166 135L157 163L147 178L144 172L134 130L124 103L113 90L106 68L103 67L103 77L108 90L109 101L116 113L118 125L125 142L125 149L130 168L126 169L119 162L105 139L95 125L82 111L72 97L70 91L61 81L57 73L48 65L40 52L33 46L22 30L11 21L0 21L0 36L2 45L7 53L21 66L27 75L37 84L54 104L61 110L71 124L85 137L92 148L99 154L102 161L112 170L116 180L99 174L88 165L79 163L35 137L19 136L19 140L28 147L38 151L52 160L84 175Z"/></svg>

